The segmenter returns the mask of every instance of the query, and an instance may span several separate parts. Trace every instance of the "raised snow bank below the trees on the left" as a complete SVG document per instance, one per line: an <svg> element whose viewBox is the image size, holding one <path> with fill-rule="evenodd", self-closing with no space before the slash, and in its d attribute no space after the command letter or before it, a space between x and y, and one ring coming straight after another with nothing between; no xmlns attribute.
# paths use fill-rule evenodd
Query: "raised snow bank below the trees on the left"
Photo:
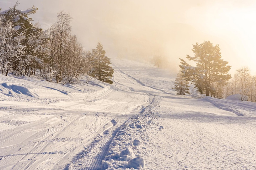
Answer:
<svg viewBox="0 0 256 170"><path fill-rule="evenodd" d="M85 99L91 95L97 97L112 88L112 85L91 79L88 84L49 83L34 77L11 77L0 75L0 100L33 101L47 99L44 102ZM91 97L90 97L91 98Z"/></svg>

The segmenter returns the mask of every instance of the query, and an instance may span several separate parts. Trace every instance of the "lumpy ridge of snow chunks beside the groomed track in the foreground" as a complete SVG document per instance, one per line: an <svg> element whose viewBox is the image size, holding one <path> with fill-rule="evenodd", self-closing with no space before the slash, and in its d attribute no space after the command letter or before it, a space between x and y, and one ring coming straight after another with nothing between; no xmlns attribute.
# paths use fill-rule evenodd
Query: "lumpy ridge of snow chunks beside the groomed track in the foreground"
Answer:
<svg viewBox="0 0 256 170"><path fill-rule="evenodd" d="M156 111L160 100L161 97L155 96L148 107L120 127L102 160L101 169L148 169L144 155L152 152L147 145L159 130L160 114Z"/></svg>

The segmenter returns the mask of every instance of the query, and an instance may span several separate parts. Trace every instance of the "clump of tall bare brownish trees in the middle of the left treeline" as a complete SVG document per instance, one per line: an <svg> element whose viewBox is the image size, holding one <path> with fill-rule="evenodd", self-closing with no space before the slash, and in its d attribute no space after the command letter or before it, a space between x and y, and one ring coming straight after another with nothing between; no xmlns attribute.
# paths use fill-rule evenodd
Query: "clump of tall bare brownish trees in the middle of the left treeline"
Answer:
<svg viewBox="0 0 256 170"><path fill-rule="evenodd" d="M42 76L50 82L55 78L57 83L75 83L88 73L91 60L76 36L71 35L70 22L70 15L61 11L58 21L47 30L48 55Z"/></svg>

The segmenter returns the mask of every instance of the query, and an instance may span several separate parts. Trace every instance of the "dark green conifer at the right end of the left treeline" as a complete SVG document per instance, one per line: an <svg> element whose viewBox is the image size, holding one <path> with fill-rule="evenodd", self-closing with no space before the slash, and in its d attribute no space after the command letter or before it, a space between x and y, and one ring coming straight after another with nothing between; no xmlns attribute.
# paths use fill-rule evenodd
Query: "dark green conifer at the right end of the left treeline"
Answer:
<svg viewBox="0 0 256 170"><path fill-rule="evenodd" d="M105 50L103 46L98 42L96 49L92 49L92 70L90 75L100 81L112 84L114 70L109 64L110 58L105 56Z"/></svg>

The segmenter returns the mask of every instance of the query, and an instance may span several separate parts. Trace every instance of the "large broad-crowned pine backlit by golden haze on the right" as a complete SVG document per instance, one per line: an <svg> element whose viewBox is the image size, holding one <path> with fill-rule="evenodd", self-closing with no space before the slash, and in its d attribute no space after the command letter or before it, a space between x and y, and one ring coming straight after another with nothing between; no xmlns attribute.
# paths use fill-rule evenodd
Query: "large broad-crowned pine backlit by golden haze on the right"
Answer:
<svg viewBox="0 0 256 170"><path fill-rule="evenodd" d="M227 66L228 62L221 59L219 45L213 46L210 41L204 41L202 44L196 43L192 51L194 57L187 55L186 58L196 62L196 66L191 66L181 58L179 66L184 73L184 78L195 86L201 87L202 91L205 90L206 96L209 96L213 83L225 82L231 78L228 74L231 66Z"/></svg>

